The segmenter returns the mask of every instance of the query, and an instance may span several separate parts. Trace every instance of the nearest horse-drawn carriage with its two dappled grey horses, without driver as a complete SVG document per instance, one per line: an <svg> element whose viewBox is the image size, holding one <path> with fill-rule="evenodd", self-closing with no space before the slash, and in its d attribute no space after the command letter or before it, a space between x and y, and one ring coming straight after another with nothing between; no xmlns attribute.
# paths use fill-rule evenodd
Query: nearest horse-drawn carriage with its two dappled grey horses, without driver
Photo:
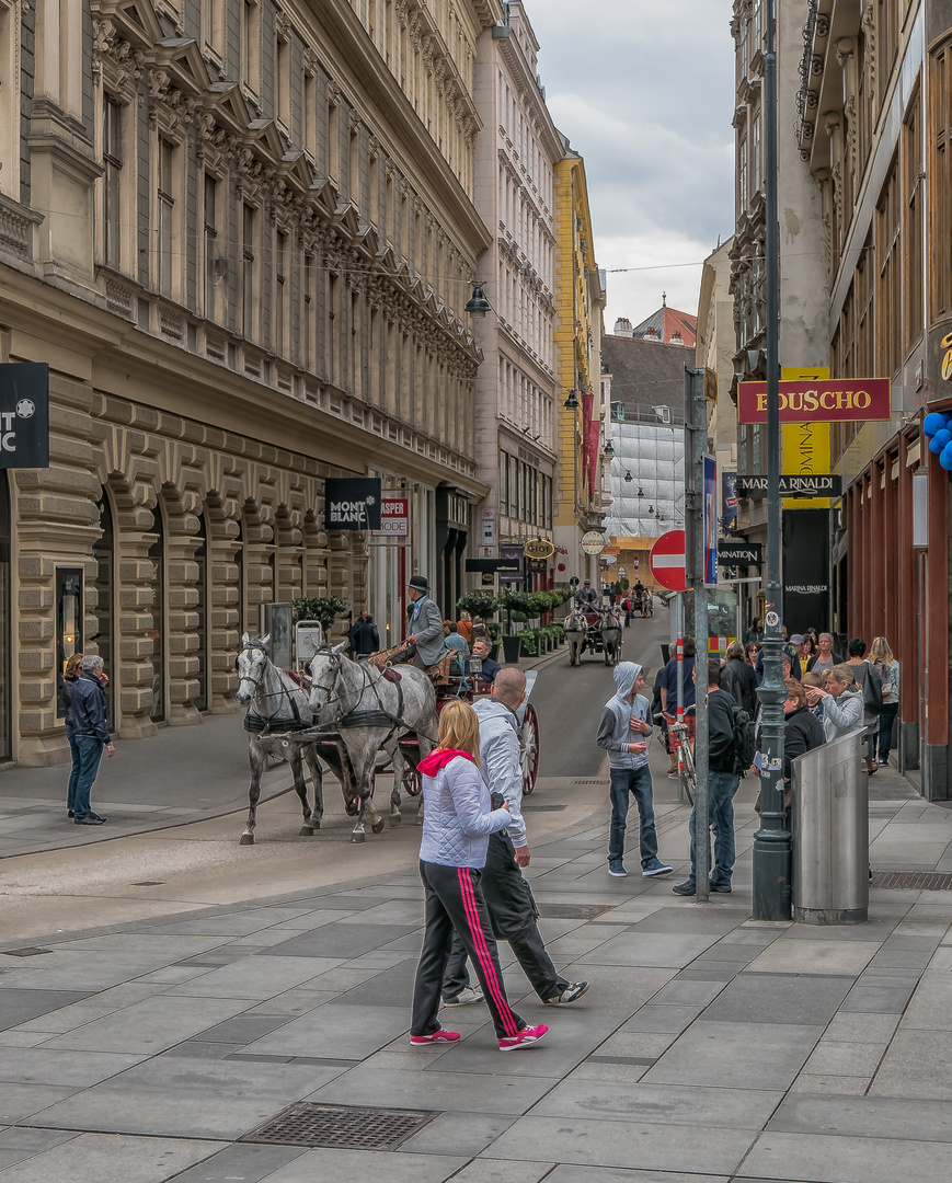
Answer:
<svg viewBox="0 0 952 1183"><path fill-rule="evenodd" d="M395 664L402 646L375 654L367 661L344 655L347 641L337 646L317 644L307 660L298 654L297 670L280 670L268 653L268 638L241 639L235 666L238 700L248 705L248 817L241 845L254 842L261 774L268 758L291 764L294 790L302 802L300 834L313 834L323 816L323 764L341 783L344 808L356 819L351 841L364 841L364 820L374 834L384 821L374 804L378 776L391 775L390 825L401 821L401 789L417 796L422 781L420 759L436 746L439 715L454 698L474 702L490 694L491 685L479 677L479 659L464 666L447 654L428 671ZM529 693L536 680L526 675L526 698L518 712L523 793L536 787L539 725ZM306 763L313 784L310 806L304 781Z"/></svg>

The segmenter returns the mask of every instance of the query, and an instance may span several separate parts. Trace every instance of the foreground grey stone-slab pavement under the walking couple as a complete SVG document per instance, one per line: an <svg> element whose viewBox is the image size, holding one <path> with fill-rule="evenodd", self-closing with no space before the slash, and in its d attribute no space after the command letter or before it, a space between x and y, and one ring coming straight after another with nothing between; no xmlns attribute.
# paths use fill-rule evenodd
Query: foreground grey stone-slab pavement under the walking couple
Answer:
<svg viewBox="0 0 952 1183"><path fill-rule="evenodd" d="M950 868L952 814L889 771L872 787L874 866ZM604 787L574 789L591 814L533 846L531 877L557 964L592 987L543 1007L507 959L513 1002L551 1026L519 1055L498 1053L483 1007L447 1013L460 1045L409 1048L409 861L0 956L0 1183L945 1177L952 893L874 890L856 927L752 922L755 788L734 892L710 905L671 892L684 807L661 809L675 877L630 860L616 880ZM238 1140L300 1100L438 1116L390 1152Z"/></svg>

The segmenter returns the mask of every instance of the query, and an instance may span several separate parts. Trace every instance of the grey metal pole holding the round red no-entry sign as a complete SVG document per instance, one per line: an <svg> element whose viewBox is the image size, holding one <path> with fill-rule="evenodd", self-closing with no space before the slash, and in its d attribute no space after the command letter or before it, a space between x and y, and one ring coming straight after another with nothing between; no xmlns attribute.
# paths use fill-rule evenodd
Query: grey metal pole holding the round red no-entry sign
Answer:
<svg viewBox="0 0 952 1183"><path fill-rule="evenodd" d="M691 486L686 522L689 544L685 548L688 583L694 592L694 874L698 903L711 898L711 812L707 796L707 552L705 537L705 453L707 452L707 401L705 371L685 370L685 455L689 457Z"/></svg>

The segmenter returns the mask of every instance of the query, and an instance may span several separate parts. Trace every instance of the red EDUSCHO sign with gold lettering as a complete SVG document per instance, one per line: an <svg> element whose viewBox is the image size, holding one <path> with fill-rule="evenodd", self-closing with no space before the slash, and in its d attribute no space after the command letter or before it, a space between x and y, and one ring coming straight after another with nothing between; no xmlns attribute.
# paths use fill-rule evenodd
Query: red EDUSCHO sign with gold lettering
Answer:
<svg viewBox="0 0 952 1183"><path fill-rule="evenodd" d="M799 379L779 383L782 424L835 424L848 420L888 419L889 379ZM737 421L766 422L766 382L740 382Z"/></svg>

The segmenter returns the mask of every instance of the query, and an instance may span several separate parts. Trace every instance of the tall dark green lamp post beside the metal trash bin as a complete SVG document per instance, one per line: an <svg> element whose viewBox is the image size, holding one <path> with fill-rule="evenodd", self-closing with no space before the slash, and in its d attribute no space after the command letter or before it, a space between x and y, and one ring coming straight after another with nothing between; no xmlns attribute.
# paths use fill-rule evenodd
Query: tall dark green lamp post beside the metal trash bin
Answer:
<svg viewBox="0 0 952 1183"><path fill-rule="evenodd" d="M768 536L764 680L757 693L763 706L760 728L760 828L753 835L753 918L790 919L791 842L783 804L783 704L786 689L781 664L781 422L779 422L779 226L777 194L777 53L776 0L765 0L764 148L766 213L766 450Z"/></svg>

